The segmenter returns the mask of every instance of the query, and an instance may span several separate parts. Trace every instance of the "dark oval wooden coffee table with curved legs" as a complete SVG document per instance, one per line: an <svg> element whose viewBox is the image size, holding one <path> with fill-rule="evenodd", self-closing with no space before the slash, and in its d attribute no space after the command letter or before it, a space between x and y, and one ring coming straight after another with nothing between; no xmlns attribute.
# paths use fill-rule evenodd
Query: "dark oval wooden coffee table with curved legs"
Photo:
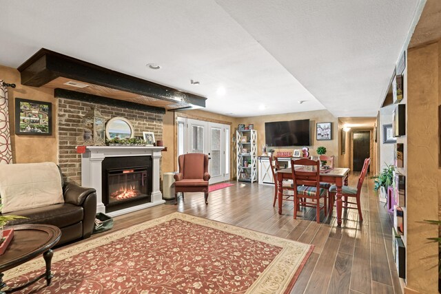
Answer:
<svg viewBox="0 0 441 294"><path fill-rule="evenodd" d="M54 255L51 248L60 240L60 229L49 224L21 224L12 228L14 228L14 238L5 253L0 255L0 294L19 291L42 277L45 277L49 286L52 279L50 267ZM6 283L3 282L3 272L28 262L41 253L46 263L45 273L16 288L1 290L6 287Z"/></svg>

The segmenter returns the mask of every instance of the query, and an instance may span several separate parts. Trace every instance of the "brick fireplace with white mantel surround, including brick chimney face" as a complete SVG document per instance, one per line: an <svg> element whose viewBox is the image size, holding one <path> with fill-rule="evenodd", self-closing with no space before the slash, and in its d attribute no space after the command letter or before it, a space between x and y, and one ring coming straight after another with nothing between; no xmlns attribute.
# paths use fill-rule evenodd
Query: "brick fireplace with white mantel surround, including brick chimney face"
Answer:
<svg viewBox="0 0 441 294"><path fill-rule="evenodd" d="M59 138L59 166L65 180L76 182L85 187L93 187L97 190L97 211L108 213L110 216L143 209L164 202L162 193L159 190L161 174L161 150L162 147L110 147L110 146L90 146L85 154L77 154L76 146L83 143L83 116L90 107L94 106L107 119L122 116L132 123L135 136L143 136L143 132L154 132L156 140L163 138L163 114L164 109L127 103L126 101L116 101L104 97L94 96L94 100L88 100L85 96L79 98L57 96L58 102L58 138ZM98 98L96 98L98 97ZM146 171L138 173L134 171L132 178L137 182L141 177L141 182L136 185L147 185L147 193L139 191L140 196L136 199L122 199L120 201L110 201L107 197L107 175L104 174L101 162L105 158L128 158L119 160L120 162L132 162L133 158L148 158L150 164L144 165ZM148 160L147 160L148 161ZM105 161L104 161L105 165ZM125 171L132 170L132 167L139 167L138 164L132 166L121 166ZM112 167L111 169L118 169ZM143 178L145 176L145 178ZM138 177L138 178L137 178ZM122 180L124 176L111 176L113 180ZM132 182L132 187L134 186ZM139 186L137 186L140 188ZM122 187L125 188L124 186ZM130 189L130 184L129 184ZM117 191L114 191L117 192ZM104 194L105 193L105 194ZM138 192L136 192L138 193ZM122 198L123 196L119 196ZM116 203L118 202L118 203Z"/></svg>

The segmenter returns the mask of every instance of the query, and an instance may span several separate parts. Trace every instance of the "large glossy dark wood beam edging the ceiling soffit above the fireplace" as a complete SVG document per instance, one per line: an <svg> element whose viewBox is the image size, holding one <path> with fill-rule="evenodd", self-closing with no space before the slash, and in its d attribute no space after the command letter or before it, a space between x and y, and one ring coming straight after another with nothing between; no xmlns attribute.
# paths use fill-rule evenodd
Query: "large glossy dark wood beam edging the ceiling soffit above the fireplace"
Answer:
<svg viewBox="0 0 441 294"><path fill-rule="evenodd" d="M44 48L20 65L17 70L21 73L21 83L33 87L41 87L54 78L62 76L164 101L187 103L196 107L205 107L207 100L203 96L109 70Z"/></svg>

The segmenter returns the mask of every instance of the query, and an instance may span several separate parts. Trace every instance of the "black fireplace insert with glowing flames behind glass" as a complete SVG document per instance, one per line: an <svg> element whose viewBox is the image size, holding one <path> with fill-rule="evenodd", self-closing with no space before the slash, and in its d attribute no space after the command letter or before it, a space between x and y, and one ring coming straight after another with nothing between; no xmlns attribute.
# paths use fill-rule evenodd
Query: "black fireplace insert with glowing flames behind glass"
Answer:
<svg viewBox="0 0 441 294"><path fill-rule="evenodd" d="M150 156L105 158L103 161L103 204L111 212L151 201Z"/></svg>

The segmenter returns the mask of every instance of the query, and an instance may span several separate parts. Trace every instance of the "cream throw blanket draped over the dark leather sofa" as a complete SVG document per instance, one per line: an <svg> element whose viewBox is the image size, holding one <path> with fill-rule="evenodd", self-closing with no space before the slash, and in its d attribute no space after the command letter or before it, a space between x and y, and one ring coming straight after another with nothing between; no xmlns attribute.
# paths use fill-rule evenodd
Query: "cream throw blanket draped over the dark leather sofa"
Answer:
<svg viewBox="0 0 441 294"><path fill-rule="evenodd" d="M63 203L61 176L54 162L0 165L1 213Z"/></svg>

